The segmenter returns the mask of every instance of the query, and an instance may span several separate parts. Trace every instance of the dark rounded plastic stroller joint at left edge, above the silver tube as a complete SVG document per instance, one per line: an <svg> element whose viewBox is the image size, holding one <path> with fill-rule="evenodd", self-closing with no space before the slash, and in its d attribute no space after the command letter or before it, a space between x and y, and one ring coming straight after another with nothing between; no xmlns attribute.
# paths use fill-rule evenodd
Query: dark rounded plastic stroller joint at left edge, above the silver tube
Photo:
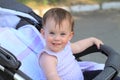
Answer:
<svg viewBox="0 0 120 80"><path fill-rule="evenodd" d="M0 46L0 64L10 69L18 69L21 62L8 50Z"/></svg>

